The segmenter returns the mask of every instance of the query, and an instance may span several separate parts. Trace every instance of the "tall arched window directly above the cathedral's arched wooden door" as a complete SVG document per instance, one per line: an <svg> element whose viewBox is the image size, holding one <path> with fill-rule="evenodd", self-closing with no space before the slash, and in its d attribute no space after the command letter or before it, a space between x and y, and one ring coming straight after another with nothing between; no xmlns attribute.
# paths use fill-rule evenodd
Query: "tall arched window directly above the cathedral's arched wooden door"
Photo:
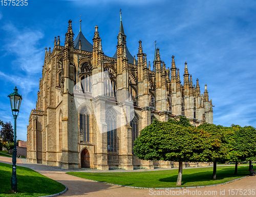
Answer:
<svg viewBox="0 0 256 197"><path fill-rule="evenodd" d="M90 142L90 116L87 108L80 112L80 142Z"/></svg>

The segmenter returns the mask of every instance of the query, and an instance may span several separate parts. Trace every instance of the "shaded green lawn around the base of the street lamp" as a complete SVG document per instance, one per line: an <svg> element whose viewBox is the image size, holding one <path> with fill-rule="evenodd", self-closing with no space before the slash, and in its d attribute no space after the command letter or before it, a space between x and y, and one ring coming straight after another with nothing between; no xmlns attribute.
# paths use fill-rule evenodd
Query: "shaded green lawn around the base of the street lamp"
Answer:
<svg viewBox="0 0 256 197"><path fill-rule="evenodd" d="M40 173L17 166L17 193L10 194L12 165L0 163L0 196L44 196L61 192L65 189L62 184L49 179Z"/></svg>

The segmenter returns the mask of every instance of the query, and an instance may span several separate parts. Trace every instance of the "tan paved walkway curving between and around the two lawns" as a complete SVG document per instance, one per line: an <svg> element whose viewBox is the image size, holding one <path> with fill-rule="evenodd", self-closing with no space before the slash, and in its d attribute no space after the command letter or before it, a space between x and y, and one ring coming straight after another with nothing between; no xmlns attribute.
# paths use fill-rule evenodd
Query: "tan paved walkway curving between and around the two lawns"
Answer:
<svg viewBox="0 0 256 197"><path fill-rule="evenodd" d="M12 158L1 157L0 162L11 163ZM31 164L25 159L17 159L17 165L31 168L46 177L58 181L68 187L67 192L61 196L93 196L93 197L144 197L144 196L256 196L256 177L246 177L228 184L210 186L204 188L190 189L175 189L175 190L149 190L149 189L134 189L121 187L116 185L98 183L81 179L78 177L66 174L67 171L77 170L62 170L58 167L46 166L42 164ZM79 170L79 171L94 171L99 170ZM114 172L115 170L111 170ZM116 170L120 171L120 170ZM101 171L102 172L102 171ZM239 190L238 190L239 189ZM252 190L254 189L254 194ZM250 193L249 193L250 190ZM238 191L238 192L237 192ZM174 193L175 192L175 193ZM234 194L232 193L234 192ZM241 193L240 193L241 192Z"/></svg>

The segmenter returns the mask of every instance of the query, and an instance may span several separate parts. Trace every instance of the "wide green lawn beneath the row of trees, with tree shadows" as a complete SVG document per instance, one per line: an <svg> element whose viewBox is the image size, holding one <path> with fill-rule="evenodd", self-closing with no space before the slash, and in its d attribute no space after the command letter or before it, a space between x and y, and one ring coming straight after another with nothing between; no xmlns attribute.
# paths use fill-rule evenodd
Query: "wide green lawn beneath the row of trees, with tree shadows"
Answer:
<svg viewBox="0 0 256 197"><path fill-rule="evenodd" d="M249 175L248 166L239 166L234 175L234 166L217 167L217 180L210 180L212 167L183 169L182 187L214 185ZM134 187L176 187L178 169L146 172L67 172L73 176L106 183Z"/></svg>

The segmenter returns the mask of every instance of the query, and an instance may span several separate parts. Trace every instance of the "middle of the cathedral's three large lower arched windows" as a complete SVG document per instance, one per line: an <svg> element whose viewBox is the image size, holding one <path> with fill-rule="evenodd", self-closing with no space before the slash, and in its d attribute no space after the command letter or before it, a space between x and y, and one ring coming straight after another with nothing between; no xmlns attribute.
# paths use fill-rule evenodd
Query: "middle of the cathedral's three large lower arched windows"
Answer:
<svg viewBox="0 0 256 197"><path fill-rule="evenodd" d="M108 129L107 140L108 140L108 151L116 152L118 151L117 142L117 118L113 110L106 111L106 125Z"/></svg>

